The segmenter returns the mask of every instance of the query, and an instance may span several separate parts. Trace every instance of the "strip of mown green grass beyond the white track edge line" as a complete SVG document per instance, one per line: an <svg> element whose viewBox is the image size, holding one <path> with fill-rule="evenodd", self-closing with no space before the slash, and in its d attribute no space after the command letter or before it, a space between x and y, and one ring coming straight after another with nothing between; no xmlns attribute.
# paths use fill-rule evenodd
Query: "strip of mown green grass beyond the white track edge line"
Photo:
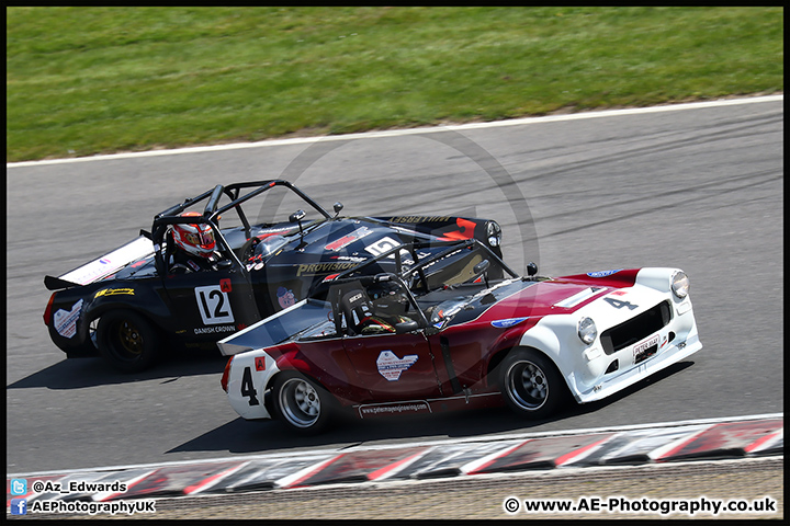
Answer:
<svg viewBox="0 0 790 526"><path fill-rule="evenodd" d="M7 162L783 90L782 8L7 8Z"/></svg>

